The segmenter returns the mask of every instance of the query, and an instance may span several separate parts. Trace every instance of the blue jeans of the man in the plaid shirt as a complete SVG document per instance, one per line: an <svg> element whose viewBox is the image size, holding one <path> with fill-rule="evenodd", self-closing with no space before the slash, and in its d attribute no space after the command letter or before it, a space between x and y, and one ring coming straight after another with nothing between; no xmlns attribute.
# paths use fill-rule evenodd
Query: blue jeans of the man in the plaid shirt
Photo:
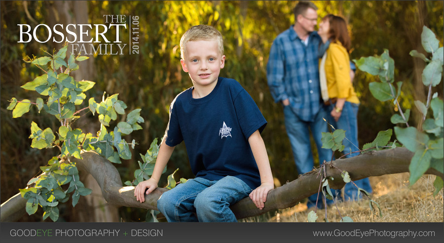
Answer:
<svg viewBox="0 0 444 243"><path fill-rule="evenodd" d="M328 116L329 114L326 113L325 109L320 109L313 122L305 122L297 117L291 106L284 106L285 127L292 145L293 157L298 173L304 174L309 172L314 166L309 129L318 149L319 163L322 164L324 161L332 160L333 151L323 149L321 141L322 132L328 132L328 124L323 120L323 118L327 119ZM308 205L311 206L316 203L317 197L317 193L310 196L308 198ZM328 202L328 204L330 203L332 201ZM322 205L321 201L318 202L318 206L320 205Z"/></svg>

